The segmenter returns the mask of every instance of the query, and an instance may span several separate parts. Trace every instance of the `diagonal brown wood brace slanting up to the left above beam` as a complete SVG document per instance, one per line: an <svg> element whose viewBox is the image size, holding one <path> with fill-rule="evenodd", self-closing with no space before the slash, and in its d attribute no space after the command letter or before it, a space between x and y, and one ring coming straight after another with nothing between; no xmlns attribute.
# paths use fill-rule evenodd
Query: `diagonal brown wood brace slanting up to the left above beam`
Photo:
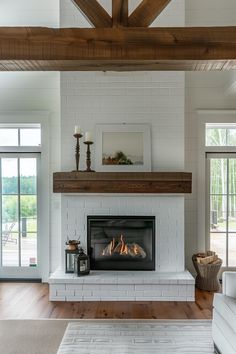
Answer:
<svg viewBox="0 0 236 354"><path fill-rule="evenodd" d="M112 19L96 0L72 0L88 22L97 28L112 27Z"/></svg>

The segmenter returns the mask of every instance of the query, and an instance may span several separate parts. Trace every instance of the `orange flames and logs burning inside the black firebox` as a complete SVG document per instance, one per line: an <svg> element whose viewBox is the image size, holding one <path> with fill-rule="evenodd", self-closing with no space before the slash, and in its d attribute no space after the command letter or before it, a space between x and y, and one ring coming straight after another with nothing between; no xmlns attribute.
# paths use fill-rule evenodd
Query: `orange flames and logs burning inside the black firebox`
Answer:
<svg viewBox="0 0 236 354"><path fill-rule="evenodd" d="M140 257L146 258L146 252L144 249L137 243L126 243L124 236L120 235L118 241L115 238L109 243L108 246L102 251L102 256L131 256L131 257Z"/></svg>

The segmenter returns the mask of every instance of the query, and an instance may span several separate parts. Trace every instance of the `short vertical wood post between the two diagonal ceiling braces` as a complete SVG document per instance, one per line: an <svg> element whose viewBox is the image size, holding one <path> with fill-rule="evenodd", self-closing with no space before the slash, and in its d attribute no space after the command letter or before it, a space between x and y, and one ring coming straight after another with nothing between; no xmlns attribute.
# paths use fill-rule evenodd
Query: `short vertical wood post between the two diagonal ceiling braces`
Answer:
<svg viewBox="0 0 236 354"><path fill-rule="evenodd" d="M112 0L113 27L128 25L128 0Z"/></svg>

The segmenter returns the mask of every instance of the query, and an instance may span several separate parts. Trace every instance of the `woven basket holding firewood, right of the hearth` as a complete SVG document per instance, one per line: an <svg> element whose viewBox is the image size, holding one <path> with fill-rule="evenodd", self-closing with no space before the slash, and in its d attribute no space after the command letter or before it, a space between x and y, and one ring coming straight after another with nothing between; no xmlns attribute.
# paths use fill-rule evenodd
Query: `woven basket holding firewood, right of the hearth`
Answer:
<svg viewBox="0 0 236 354"><path fill-rule="evenodd" d="M222 260L219 259L217 264L201 264L197 262L197 255L193 255L192 261L197 272L196 287L201 290L218 291L220 289L220 282L218 273L222 266Z"/></svg>

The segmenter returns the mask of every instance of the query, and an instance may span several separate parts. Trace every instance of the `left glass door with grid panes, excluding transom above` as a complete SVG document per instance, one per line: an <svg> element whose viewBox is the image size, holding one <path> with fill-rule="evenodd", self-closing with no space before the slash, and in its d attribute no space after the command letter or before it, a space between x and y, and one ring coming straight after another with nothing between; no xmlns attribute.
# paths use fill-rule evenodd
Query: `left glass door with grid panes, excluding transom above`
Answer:
<svg viewBox="0 0 236 354"><path fill-rule="evenodd" d="M40 154L0 154L0 276L38 278Z"/></svg>

